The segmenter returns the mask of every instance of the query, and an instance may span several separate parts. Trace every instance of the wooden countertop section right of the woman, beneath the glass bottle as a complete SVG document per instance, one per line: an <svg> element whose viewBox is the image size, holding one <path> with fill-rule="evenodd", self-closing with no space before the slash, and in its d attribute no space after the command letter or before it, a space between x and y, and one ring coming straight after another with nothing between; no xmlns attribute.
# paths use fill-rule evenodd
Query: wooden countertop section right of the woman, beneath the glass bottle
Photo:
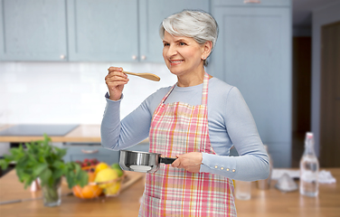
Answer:
<svg viewBox="0 0 340 217"><path fill-rule="evenodd" d="M317 197L300 195L298 190L281 193L274 187L277 181L271 182L269 190L259 190L252 183L251 199L235 201L238 217L340 216L340 168L322 169L330 171L337 182L319 184Z"/></svg>

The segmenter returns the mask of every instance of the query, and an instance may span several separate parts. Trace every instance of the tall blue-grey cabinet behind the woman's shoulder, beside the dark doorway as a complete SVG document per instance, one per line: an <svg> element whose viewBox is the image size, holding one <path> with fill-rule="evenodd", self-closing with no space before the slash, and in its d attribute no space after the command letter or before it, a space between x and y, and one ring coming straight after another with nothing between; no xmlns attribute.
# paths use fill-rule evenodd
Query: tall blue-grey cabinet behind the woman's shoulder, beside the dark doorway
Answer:
<svg viewBox="0 0 340 217"><path fill-rule="evenodd" d="M220 26L209 72L236 86L269 146L274 166L291 161L290 1L213 1Z"/></svg>

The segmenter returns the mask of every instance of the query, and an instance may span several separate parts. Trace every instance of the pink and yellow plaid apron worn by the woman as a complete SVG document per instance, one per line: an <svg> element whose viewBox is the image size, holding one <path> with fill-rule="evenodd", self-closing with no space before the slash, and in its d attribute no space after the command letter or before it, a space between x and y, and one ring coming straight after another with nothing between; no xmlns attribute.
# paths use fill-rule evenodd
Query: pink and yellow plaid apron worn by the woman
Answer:
<svg viewBox="0 0 340 217"><path fill-rule="evenodd" d="M205 73L202 105L182 102L157 107L150 127L150 152L174 157L188 152L215 154L208 129L208 82ZM236 216L231 179L209 173L190 173L160 164L146 174L139 216Z"/></svg>

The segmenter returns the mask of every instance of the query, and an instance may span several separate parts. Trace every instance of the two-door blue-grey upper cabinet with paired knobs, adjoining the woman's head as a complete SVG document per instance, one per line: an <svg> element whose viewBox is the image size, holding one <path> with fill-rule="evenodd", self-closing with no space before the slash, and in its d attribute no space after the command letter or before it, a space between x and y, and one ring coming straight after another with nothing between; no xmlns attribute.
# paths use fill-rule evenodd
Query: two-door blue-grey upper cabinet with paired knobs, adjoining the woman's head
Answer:
<svg viewBox="0 0 340 217"><path fill-rule="evenodd" d="M163 19L209 6L207 0L68 0L69 60L163 62Z"/></svg>

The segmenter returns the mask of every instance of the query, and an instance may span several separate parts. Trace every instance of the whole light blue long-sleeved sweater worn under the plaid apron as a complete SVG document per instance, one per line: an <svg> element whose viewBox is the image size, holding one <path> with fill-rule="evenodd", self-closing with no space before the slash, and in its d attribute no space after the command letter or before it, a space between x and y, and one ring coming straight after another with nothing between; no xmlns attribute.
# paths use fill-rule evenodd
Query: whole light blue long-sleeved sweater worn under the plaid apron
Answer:
<svg viewBox="0 0 340 217"><path fill-rule="evenodd" d="M126 149L146 139L152 115L171 87L151 94L141 105L120 121L120 103L106 95L107 106L101 123L101 144L113 150ZM269 176L269 157L260 139L250 109L240 90L217 78L209 80L208 127L213 150L203 153L200 172L255 181ZM181 88L175 86L165 103L181 101L202 104L203 84ZM240 156L229 156L235 146ZM228 170L229 169L229 170Z"/></svg>

